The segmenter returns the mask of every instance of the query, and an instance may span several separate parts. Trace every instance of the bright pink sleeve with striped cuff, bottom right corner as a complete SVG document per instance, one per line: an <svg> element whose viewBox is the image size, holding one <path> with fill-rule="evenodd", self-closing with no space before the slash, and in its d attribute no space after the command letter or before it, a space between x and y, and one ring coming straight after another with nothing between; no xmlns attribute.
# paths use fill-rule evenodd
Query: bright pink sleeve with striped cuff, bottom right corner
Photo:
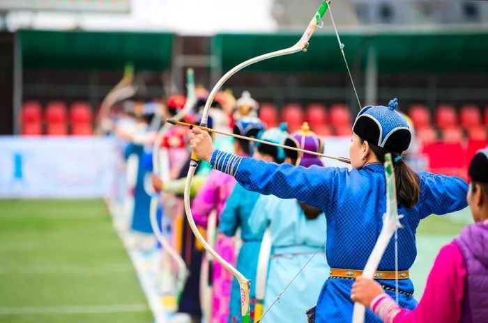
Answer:
<svg viewBox="0 0 488 323"><path fill-rule="evenodd" d="M455 242L443 246L427 278L425 292L415 310L400 308L390 297L374 299L372 308L383 322L457 323L462 316L466 266ZM390 317L381 314L395 312Z"/></svg>

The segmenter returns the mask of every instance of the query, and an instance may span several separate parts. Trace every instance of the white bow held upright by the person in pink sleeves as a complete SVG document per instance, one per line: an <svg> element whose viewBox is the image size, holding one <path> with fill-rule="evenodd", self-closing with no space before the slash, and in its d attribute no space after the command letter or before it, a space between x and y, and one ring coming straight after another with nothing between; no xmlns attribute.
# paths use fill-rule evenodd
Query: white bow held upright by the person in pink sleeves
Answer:
<svg viewBox="0 0 488 323"><path fill-rule="evenodd" d="M374 272L378 269L379 262L390 243L392 235L397 233L398 228L402 228L399 222L403 216L398 215L397 210L397 189L395 186L395 170L393 168L391 154L385 155L385 178L386 178L386 213L383 216L383 228L379 234L372 253L366 262L363 277L374 278ZM396 239L395 239L396 243ZM396 255L395 250L395 255ZM395 271L397 271L395 269ZM358 302L354 303L353 323L363 323L365 320L365 306Z"/></svg>

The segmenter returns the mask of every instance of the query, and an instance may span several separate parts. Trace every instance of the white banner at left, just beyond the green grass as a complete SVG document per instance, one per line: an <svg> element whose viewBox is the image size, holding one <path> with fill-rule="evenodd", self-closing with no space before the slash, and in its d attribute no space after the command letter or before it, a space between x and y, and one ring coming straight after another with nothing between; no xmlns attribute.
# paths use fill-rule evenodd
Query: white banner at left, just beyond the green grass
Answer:
<svg viewBox="0 0 488 323"><path fill-rule="evenodd" d="M103 198L121 152L100 137L0 136L0 198Z"/></svg>

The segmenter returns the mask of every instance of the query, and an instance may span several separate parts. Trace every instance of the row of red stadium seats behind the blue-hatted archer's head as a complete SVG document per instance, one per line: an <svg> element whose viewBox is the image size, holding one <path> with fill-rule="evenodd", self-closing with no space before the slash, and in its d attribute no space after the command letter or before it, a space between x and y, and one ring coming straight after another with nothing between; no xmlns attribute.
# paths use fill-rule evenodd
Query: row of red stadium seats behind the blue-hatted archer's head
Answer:
<svg viewBox="0 0 488 323"><path fill-rule="evenodd" d="M479 107L473 104L465 104L459 116L452 105L439 105L435 112L435 124L432 124L429 109L425 105L415 104L407 114L422 142L488 138L488 107L485 109L484 120ZM302 123L307 121L312 130L322 136L349 136L353 118L351 110L344 104L333 104L330 109L326 109L323 104L310 104L305 109L300 104L286 104L280 118L279 109L270 103L261 104L259 117L270 127L280 122L288 123L291 132L300 129Z"/></svg>

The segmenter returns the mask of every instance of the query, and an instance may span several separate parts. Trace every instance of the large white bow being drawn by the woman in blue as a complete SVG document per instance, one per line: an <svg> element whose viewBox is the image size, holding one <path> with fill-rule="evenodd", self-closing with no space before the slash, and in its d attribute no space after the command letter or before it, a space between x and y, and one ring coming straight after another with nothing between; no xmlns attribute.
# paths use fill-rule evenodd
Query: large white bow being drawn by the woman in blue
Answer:
<svg viewBox="0 0 488 323"><path fill-rule="evenodd" d="M268 58L273 58L277 56L283 56L287 54L293 54L297 52L306 52L307 47L308 47L308 41L312 37L315 29L317 29L317 26L320 26L321 24L321 19L326 13L326 10L329 7L330 0L323 0L321 3L321 6L319 6L319 9L317 10L317 13L315 13L314 17L312 17L312 20L307 26L307 29L301 36L300 40L296 42L295 45L287 48L287 49L281 49L275 52L270 52L268 54L263 54L256 56L254 58L250 58L247 61L237 65L236 67L232 68L229 70L229 72L225 73L224 76L215 84L213 89L211 90L210 95L208 95L208 99L205 103L204 111L201 116L201 123L200 125L206 127L207 125L207 119L208 119L208 113L210 111L211 104L213 102L213 99L215 95L217 94L218 90L222 87L225 81L229 79L232 75L234 75L236 72L239 70L242 70L248 65L251 65L253 63L257 63L259 61L264 61L265 59ZM249 279L245 278L243 274L241 274L240 271L238 271L236 268L234 268L229 262L224 260L222 256L220 256L211 246L206 242L204 237L199 233L199 230L197 229L197 225L195 224L195 220L193 219L192 216L192 210L190 206L190 187L192 184L192 178L193 175L195 175L195 171L197 170L197 166L199 164L199 158L195 153L192 153L192 158L190 161L190 168L188 169L188 175L186 178L185 182L185 195L184 195L184 205L185 205L185 213L188 219L188 223L190 223L190 228L192 229L193 233L195 234L195 237L201 242L201 244L204 246L206 251L210 253L215 260L220 262L220 264L225 267L227 270L231 271L231 273L237 278L238 283L241 287L241 315L243 317L243 323L249 323L250 322L250 301L249 301L249 291L250 291L250 281Z"/></svg>

